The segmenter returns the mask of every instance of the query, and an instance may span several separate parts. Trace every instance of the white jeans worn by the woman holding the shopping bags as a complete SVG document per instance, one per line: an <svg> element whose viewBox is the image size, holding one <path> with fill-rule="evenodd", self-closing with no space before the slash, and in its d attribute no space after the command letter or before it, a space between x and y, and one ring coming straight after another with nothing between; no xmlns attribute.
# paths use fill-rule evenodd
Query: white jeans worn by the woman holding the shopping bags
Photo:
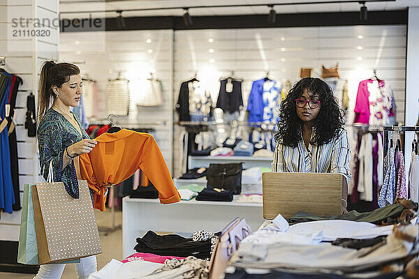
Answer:
<svg viewBox="0 0 419 279"><path fill-rule="evenodd" d="M34 279L59 279L63 274L66 264L42 264ZM75 264L78 279L87 279L91 273L97 271L96 256L89 256L80 259Z"/></svg>

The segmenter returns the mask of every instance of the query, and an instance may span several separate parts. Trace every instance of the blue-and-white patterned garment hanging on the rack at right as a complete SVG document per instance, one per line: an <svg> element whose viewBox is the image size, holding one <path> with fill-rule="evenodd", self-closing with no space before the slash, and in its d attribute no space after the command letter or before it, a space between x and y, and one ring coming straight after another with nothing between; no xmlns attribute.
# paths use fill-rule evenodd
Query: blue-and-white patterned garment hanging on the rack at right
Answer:
<svg viewBox="0 0 419 279"><path fill-rule="evenodd" d="M381 187L378 196L378 205L380 207L392 204L395 201L396 194L396 166L395 166L395 149L388 149L388 167L386 167L383 187Z"/></svg>

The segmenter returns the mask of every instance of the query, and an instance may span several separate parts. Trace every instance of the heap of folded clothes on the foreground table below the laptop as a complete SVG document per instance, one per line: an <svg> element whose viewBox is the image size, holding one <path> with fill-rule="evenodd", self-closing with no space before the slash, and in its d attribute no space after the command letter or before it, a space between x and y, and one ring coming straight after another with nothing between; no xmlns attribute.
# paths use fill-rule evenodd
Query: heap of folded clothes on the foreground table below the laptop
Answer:
<svg viewBox="0 0 419 279"><path fill-rule="evenodd" d="M279 214L241 241L225 278L397 278L419 254L417 210L403 199L343 218Z"/></svg>

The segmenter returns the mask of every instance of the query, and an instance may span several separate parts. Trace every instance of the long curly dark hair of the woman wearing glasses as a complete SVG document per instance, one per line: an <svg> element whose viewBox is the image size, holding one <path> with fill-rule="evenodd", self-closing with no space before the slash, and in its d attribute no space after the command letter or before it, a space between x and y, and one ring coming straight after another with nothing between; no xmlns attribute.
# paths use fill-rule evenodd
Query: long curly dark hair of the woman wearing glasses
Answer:
<svg viewBox="0 0 419 279"><path fill-rule="evenodd" d="M275 140L281 144L295 147L302 138L303 121L297 115L295 99L299 98L306 88L309 92L317 93L321 101L320 112L314 123L314 137L310 144L326 144L338 137L340 130L344 128L344 111L339 108L338 100L330 86L318 78L304 77L294 84L288 96L281 102L279 132L275 135Z"/></svg>

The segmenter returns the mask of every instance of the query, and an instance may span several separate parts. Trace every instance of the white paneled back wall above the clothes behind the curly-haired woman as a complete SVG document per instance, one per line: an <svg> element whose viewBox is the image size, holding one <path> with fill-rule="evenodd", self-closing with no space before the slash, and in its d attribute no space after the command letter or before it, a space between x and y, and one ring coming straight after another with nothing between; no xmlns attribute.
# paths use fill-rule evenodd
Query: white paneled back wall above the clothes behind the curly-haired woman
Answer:
<svg viewBox="0 0 419 279"><path fill-rule="evenodd" d="M339 63L340 77L348 80L349 122L358 84L372 77L376 67L378 77L390 82L395 93L397 121L404 121L404 25L176 31L174 59L175 102L181 82L196 71L215 102L219 78L234 70L235 77L244 79L242 92L247 103L252 81L262 78L265 70L270 70L274 80L297 82L300 68L314 68L313 76L320 77L322 65ZM175 176L180 174L180 130L175 128Z"/></svg>

